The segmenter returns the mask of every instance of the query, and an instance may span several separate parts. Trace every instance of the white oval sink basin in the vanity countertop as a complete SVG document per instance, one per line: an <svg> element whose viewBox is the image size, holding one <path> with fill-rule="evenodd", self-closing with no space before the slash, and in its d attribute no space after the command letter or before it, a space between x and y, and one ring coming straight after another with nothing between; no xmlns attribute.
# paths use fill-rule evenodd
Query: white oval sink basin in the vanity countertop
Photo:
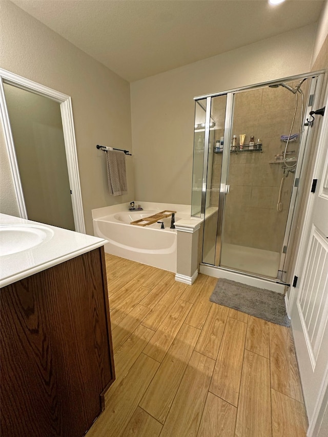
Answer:
<svg viewBox="0 0 328 437"><path fill-rule="evenodd" d="M0 256L16 254L41 244L53 236L45 226L32 224L0 225Z"/></svg>

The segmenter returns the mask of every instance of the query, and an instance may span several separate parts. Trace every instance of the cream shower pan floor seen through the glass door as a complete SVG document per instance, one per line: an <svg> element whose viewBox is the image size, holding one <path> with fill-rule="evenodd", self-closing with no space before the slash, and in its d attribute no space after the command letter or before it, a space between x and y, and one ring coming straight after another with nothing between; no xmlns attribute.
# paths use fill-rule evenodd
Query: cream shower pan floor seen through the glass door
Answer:
<svg viewBox="0 0 328 437"><path fill-rule="evenodd" d="M264 251L236 244L222 244L221 267L275 279L278 273L279 261L280 253L278 252Z"/></svg>

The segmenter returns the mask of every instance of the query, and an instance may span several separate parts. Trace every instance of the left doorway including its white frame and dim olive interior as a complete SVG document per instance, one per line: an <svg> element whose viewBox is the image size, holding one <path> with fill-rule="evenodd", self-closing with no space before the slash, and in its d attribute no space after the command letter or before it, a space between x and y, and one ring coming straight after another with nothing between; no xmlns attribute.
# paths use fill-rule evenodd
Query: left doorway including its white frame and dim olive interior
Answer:
<svg viewBox="0 0 328 437"><path fill-rule="evenodd" d="M71 98L0 69L19 215L85 233Z"/></svg>

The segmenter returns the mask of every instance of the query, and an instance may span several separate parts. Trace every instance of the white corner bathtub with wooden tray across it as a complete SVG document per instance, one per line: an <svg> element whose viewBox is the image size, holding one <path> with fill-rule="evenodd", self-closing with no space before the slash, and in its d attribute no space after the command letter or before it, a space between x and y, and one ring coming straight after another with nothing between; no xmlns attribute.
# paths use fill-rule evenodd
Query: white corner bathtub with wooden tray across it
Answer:
<svg viewBox="0 0 328 437"><path fill-rule="evenodd" d="M130 223L166 209L177 211L177 221L190 217L190 206L138 203L144 206L144 211L128 211L128 203L93 210L94 235L108 240L106 253L176 273L177 233L170 229L171 217L160 220L165 229L159 223L148 226Z"/></svg>

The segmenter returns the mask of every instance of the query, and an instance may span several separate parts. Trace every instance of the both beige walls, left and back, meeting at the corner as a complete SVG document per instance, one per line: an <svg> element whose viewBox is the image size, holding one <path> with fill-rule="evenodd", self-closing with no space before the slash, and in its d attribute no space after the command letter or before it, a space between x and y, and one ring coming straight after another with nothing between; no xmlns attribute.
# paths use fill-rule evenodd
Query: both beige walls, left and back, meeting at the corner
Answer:
<svg viewBox="0 0 328 437"><path fill-rule="evenodd" d="M132 150L128 82L10 2L1 2L0 8L1 67L72 97L89 233L96 207L134 197L190 203L193 97L308 71L316 31L315 25L306 26L131 84L129 194L114 198L108 194L104 152L95 145ZM6 156L3 147L2 142ZM4 212L14 214L6 159L1 165L7 187L2 205Z"/></svg>

